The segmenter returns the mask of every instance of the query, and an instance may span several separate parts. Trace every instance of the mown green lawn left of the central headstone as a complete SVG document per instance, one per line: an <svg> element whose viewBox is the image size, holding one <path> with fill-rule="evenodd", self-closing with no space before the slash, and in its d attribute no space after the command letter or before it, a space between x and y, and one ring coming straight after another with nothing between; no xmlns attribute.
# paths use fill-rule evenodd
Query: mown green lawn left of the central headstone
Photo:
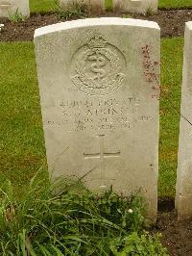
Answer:
<svg viewBox="0 0 192 256"><path fill-rule="evenodd" d="M21 193L36 170L45 167L34 45L1 43L0 180Z"/></svg>

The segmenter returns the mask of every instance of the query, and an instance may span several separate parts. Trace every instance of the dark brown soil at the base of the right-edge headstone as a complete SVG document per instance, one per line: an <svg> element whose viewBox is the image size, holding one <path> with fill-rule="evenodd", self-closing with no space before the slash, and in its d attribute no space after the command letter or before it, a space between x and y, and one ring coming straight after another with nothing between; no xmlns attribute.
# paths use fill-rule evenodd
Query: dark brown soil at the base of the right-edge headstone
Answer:
<svg viewBox="0 0 192 256"><path fill-rule="evenodd" d="M173 199L159 200L153 232L162 234L162 243L171 256L192 256L192 219L178 221Z"/></svg>

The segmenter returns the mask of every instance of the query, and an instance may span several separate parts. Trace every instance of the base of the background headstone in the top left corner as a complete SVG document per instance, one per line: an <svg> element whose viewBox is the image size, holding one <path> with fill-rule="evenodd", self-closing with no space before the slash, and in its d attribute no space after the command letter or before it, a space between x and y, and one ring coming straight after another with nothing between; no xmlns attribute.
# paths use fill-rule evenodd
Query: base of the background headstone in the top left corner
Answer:
<svg viewBox="0 0 192 256"><path fill-rule="evenodd" d="M0 17L9 17L15 13L29 16L29 0L0 0Z"/></svg>

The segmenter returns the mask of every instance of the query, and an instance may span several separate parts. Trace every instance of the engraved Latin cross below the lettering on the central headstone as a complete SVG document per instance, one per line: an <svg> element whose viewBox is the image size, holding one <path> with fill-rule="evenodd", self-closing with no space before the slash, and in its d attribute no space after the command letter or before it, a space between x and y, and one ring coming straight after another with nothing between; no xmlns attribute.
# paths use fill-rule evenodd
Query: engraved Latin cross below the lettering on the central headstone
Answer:
<svg viewBox="0 0 192 256"><path fill-rule="evenodd" d="M100 168L101 168L101 178L105 179L105 158L115 158L119 157L121 154L121 151L107 153L104 150L104 137L105 135L98 135L99 139L99 145L100 145L100 152L94 153L94 154L85 154L84 153L84 159L94 159L99 158L100 159Z"/></svg>

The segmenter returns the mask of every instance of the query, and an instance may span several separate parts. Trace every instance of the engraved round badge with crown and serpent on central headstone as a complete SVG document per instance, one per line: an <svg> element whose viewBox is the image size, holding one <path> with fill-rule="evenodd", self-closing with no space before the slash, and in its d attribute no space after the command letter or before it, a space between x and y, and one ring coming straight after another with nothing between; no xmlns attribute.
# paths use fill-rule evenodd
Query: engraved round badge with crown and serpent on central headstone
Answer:
<svg viewBox="0 0 192 256"><path fill-rule="evenodd" d="M126 61L122 52L96 34L74 54L70 76L74 85L89 95L105 95L120 88Z"/></svg>

